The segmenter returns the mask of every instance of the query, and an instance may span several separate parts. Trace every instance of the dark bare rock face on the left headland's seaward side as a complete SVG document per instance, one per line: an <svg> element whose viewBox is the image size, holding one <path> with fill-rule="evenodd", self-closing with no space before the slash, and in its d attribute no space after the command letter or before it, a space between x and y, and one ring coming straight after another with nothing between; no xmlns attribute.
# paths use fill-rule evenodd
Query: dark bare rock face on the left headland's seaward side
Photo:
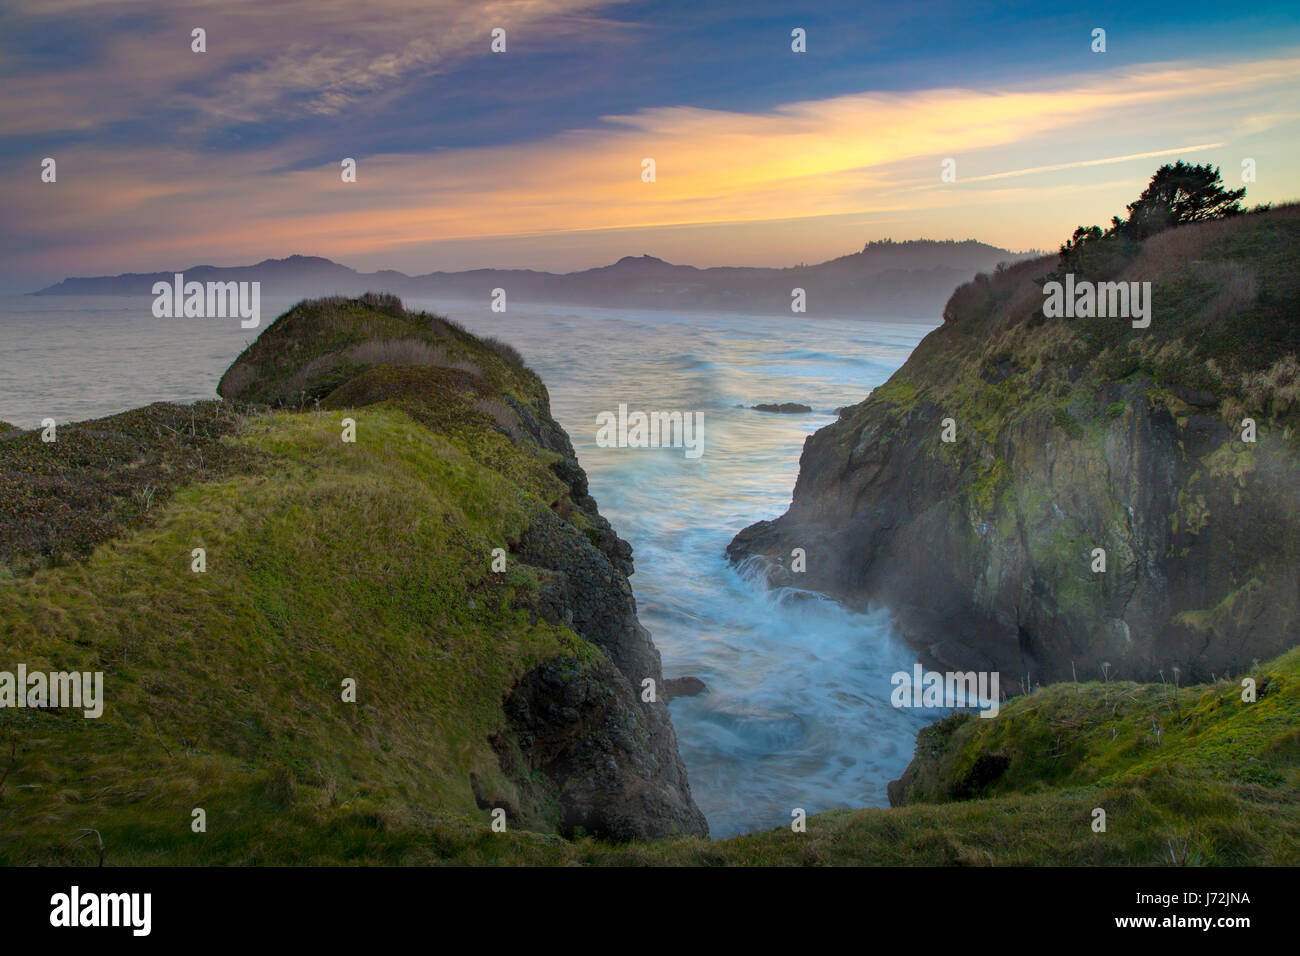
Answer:
<svg viewBox="0 0 1300 956"><path fill-rule="evenodd" d="M707 836L667 701L660 695L655 702L642 700L642 682L660 687L663 671L650 632L637 620L628 583L632 546L601 516L569 437L549 411L521 419L536 444L564 455L554 470L589 531L540 512L515 557L549 572L534 598L537 614L571 628L607 661L585 669L551 661L520 682L506 702L520 750L529 769L554 784L566 834L581 827L616 840Z"/></svg>

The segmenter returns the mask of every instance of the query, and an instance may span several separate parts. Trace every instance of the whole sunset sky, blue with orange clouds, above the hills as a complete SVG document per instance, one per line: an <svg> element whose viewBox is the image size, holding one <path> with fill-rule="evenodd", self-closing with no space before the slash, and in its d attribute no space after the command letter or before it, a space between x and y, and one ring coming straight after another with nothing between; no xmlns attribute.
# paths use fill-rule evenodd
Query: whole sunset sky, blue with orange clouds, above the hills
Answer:
<svg viewBox="0 0 1300 956"><path fill-rule="evenodd" d="M1297 68L1294 1L0 0L0 291L1056 248L1178 159L1300 199Z"/></svg>

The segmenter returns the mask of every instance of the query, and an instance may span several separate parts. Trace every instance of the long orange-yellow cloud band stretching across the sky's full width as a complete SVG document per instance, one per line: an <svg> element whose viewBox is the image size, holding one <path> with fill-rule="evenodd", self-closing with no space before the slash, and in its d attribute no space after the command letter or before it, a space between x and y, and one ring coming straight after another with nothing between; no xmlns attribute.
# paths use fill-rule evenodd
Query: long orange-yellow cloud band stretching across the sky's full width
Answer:
<svg viewBox="0 0 1300 956"><path fill-rule="evenodd" d="M410 53L412 61L428 56ZM382 86L390 73L415 69L406 57L350 60L354 79L338 92L346 98L355 85ZM1165 64L1031 90L863 92L758 113L654 108L526 144L360 155L356 183L341 182L337 161L300 168L302 146L291 142L220 156L75 147L61 152L56 186L14 193L12 221L22 224L14 235L23 239L6 241L6 252L35 265L61 246L64 259L118 264L101 271L290 252L387 258L385 264L421 269L436 267L430 250L452 241L731 224L740 261L748 225L826 217L842 224L827 235L844 242L852 234L846 213L896 215L939 235L974 234L984 222L1011 237L1018 224L1019 245L1056 245L1057 219L1070 222L1101 206L1088 221L1105 220L1132 199L1113 174L1104 182L1076 173L1231 144L1249 117L1290 108L1297 66L1292 57ZM281 103L285 88L312 88L311 77L334 68L304 57L298 68L266 69L302 73L287 87L283 78L242 74L252 79L234 88L229 109L256 105L259 95ZM1153 139L1199 146L1150 150ZM644 157L656 163L654 183L641 181ZM940 182L944 157L957 159L957 183ZM1135 172L1140 185L1150 168ZM998 185L1028 173L1044 182ZM982 238L998 238L988 232ZM771 230L764 234L771 247Z"/></svg>

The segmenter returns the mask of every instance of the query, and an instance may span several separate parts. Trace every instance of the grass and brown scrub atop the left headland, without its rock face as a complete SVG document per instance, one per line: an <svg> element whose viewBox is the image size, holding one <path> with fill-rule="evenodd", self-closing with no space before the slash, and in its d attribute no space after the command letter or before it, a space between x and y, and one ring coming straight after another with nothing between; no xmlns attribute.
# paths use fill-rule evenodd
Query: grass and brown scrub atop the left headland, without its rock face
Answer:
<svg viewBox="0 0 1300 956"><path fill-rule="evenodd" d="M98 721L0 710L0 861L86 861L86 842L69 845L79 827L117 864L342 861L354 839L384 860L376 821L482 825L485 796L529 808L494 749L511 744L502 700L541 662L599 659L519 609L530 568L490 572L491 549L567 488L488 397L537 410L545 388L429 316L326 302L282 321L339 334L313 343L282 325L250 350L263 381L328 364L365 323L422 364L354 367L364 407L151 406L0 445L0 666L101 670L107 697ZM276 368L283 352L296 363ZM322 816L303 825L298 809ZM549 812L516 823L546 830Z"/></svg>

